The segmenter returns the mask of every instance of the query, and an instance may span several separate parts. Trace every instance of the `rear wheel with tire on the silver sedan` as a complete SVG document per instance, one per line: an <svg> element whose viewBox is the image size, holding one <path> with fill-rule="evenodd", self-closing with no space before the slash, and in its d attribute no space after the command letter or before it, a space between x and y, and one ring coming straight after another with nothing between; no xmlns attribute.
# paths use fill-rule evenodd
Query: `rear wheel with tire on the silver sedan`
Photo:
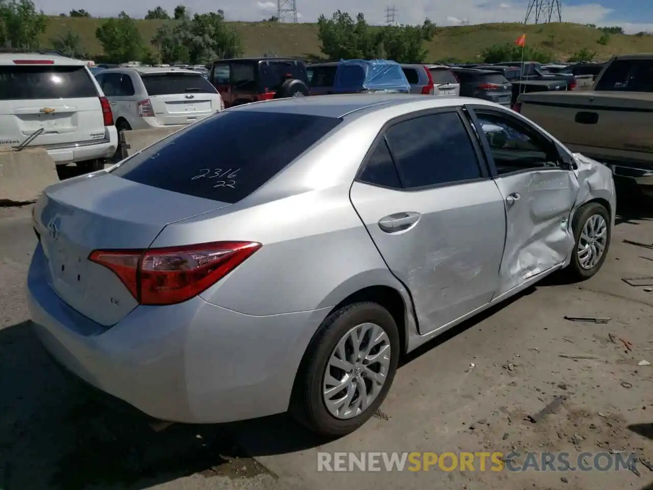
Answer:
<svg viewBox="0 0 653 490"><path fill-rule="evenodd" d="M383 306L359 302L332 312L298 370L291 415L321 436L355 431L387 396L399 355L399 331Z"/></svg>

